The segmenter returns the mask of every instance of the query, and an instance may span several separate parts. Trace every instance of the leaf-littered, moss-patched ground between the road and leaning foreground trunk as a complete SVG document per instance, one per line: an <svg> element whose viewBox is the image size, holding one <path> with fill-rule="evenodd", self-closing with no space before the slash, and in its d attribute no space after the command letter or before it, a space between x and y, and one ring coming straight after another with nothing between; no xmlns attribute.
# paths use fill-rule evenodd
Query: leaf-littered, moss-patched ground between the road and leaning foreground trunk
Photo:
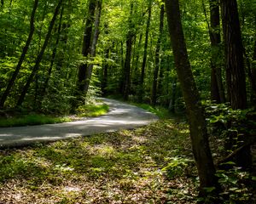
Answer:
<svg viewBox="0 0 256 204"><path fill-rule="evenodd" d="M0 202L195 203L191 159L188 127L172 120L0 150Z"/></svg>

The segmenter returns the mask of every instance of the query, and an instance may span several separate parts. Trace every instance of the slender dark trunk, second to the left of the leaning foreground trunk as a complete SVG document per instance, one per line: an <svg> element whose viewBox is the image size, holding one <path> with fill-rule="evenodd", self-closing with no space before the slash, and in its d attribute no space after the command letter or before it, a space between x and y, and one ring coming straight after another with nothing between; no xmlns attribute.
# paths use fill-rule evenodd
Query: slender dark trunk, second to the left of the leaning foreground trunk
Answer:
<svg viewBox="0 0 256 204"><path fill-rule="evenodd" d="M138 95L139 101L142 101L143 95L144 95L144 78L145 78L145 69L147 64L147 57L148 57L148 34L149 34L149 27L151 22L151 10L152 5L151 1L148 4L148 21L147 21L147 27L145 32L145 44L144 44L144 54L143 54L143 66L142 66L142 73L141 73L141 79L140 79L140 93Z"/></svg>

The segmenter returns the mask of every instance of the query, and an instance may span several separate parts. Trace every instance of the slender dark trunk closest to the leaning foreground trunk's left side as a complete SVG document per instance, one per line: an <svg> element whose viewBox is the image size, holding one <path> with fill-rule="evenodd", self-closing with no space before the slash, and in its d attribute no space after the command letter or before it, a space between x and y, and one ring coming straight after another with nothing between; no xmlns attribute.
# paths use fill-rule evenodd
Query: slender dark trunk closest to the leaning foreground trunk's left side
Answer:
<svg viewBox="0 0 256 204"><path fill-rule="evenodd" d="M155 67L154 67L152 96L151 96L152 105L156 105L157 80L158 80L159 67L160 67L160 45L161 45L162 33L164 30L164 17L165 17L165 6L162 5L160 8L160 27L159 27L160 34L159 34L159 37L156 43L156 48L155 48Z"/></svg>

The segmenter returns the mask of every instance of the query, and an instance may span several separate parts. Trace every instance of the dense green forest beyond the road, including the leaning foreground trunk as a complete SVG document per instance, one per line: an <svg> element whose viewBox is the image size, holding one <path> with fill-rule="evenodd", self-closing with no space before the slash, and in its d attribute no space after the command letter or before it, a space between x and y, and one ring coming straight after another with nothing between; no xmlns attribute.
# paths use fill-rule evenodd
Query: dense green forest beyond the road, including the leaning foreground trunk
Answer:
<svg viewBox="0 0 256 204"><path fill-rule="evenodd" d="M186 110L202 195L218 189L209 133L222 162L252 168L255 2L1 0L0 25L1 116L99 95Z"/></svg>

